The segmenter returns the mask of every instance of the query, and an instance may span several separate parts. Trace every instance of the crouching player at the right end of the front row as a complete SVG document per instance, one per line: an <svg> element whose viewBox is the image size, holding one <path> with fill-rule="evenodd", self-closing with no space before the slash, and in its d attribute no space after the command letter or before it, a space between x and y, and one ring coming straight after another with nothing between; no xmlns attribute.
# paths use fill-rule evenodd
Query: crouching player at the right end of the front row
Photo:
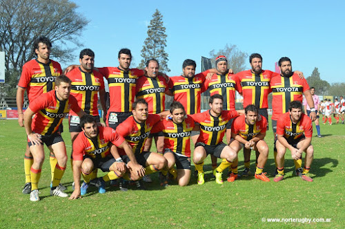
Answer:
<svg viewBox="0 0 345 229"><path fill-rule="evenodd" d="M309 177L309 170L313 161L314 149L311 145L313 135L313 125L311 119L302 112L302 103L299 101L290 102L289 111L277 121L277 175L275 182L284 178L284 156L286 149L290 149L291 156L297 160L302 158L302 153L306 152L304 169L301 176L304 181L313 181ZM299 169L301 170L301 169Z"/></svg>

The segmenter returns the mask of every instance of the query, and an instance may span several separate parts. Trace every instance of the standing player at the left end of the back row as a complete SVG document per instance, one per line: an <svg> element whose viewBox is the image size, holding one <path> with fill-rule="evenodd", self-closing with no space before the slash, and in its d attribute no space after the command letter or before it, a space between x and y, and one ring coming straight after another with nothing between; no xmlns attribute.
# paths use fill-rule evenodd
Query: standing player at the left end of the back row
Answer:
<svg viewBox="0 0 345 229"><path fill-rule="evenodd" d="M37 55L37 59L32 59L23 65L21 77L19 79L17 87L17 111L18 111L18 122L23 127L23 100L24 92L28 94L29 103L34 99L38 98L42 93L47 93L54 89L55 77L62 74L61 66L58 62L55 62L50 57L50 48L52 44L46 37L39 37L34 41L33 51ZM62 125L61 125L62 127ZM31 192L31 176L30 168L33 163L32 154L30 153L27 145L24 156L24 171L26 175L26 184L23 188L23 194L30 194ZM57 159L53 154L50 154L50 167L53 172ZM66 187L61 185L63 190Z"/></svg>

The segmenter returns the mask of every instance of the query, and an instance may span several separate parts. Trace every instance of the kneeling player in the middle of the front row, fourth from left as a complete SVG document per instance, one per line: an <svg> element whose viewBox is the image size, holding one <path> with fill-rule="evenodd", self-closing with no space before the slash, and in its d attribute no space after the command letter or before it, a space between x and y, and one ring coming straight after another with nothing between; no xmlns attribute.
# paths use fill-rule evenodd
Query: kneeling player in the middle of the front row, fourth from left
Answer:
<svg viewBox="0 0 345 229"><path fill-rule="evenodd" d="M161 120L152 132L163 131L164 157L168 161L168 170L176 164L177 183L186 186L190 180L190 134L194 128L194 120L186 116L184 106L177 101L170 105L171 120ZM161 185L167 184L166 176L160 176Z"/></svg>

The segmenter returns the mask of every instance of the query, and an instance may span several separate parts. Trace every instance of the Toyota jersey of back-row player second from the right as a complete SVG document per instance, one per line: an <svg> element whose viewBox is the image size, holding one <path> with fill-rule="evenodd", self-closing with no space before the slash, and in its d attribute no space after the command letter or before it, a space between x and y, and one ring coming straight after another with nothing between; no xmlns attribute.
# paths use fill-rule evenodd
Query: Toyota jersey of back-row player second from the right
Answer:
<svg viewBox="0 0 345 229"><path fill-rule="evenodd" d="M251 70L241 71L236 74L242 86L243 107L254 104L259 109L268 108L270 79L273 75L279 74L268 70L262 70L260 74L252 73Z"/></svg>

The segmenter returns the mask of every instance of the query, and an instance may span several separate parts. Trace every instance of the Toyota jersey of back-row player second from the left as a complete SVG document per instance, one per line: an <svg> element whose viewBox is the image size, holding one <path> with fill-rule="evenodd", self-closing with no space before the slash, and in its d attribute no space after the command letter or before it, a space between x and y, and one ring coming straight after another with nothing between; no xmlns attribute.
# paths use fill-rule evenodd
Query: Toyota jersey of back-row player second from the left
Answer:
<svg viewBox="0 0 345 229"><path fill-rule="evenodd" d="M73 95L79 107L91 116L98 116L98 92L104 89L103 75L98 71L86 73L81 68L74 68L66 74L72 80L70 94ZM70 111L71 116L77 113Z"/></svg>

